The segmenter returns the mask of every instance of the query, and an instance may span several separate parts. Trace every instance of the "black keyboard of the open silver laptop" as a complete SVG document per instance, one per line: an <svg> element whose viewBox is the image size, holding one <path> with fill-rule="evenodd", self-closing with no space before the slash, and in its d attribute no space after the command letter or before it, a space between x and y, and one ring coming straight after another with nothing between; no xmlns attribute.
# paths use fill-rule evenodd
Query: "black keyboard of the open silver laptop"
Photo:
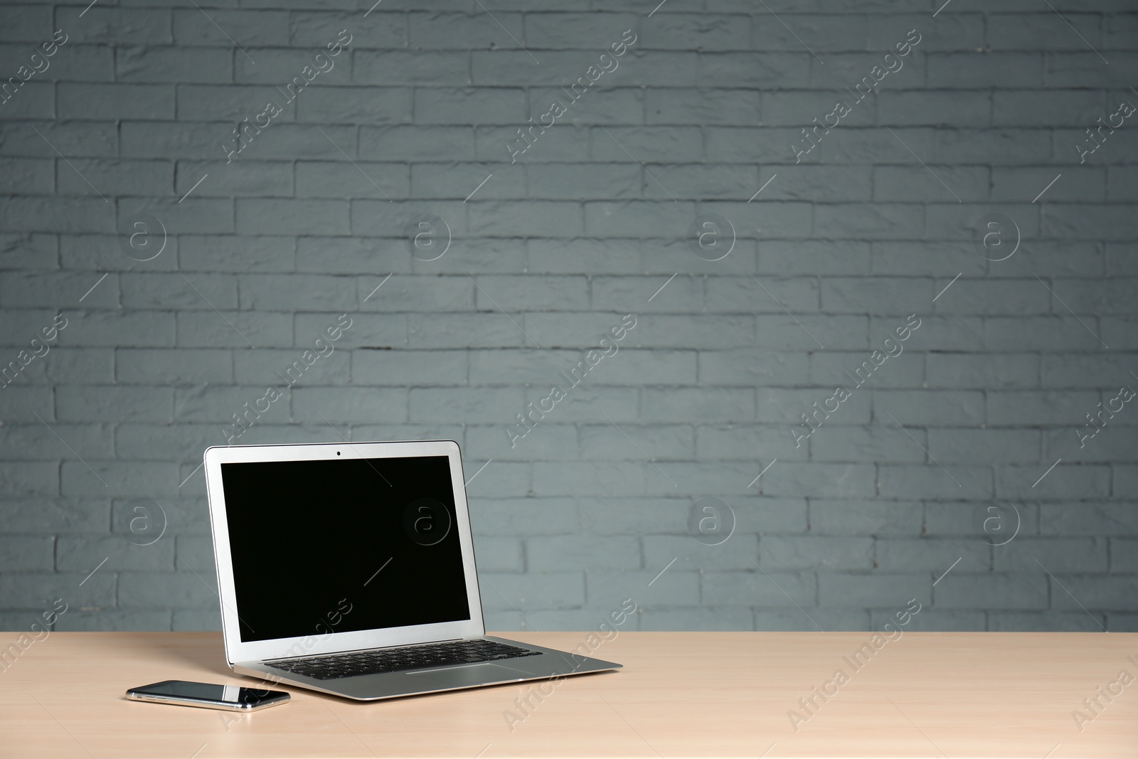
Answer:
<svg viewBox="0 0 1138 759"><path fill-rule="evenodd" d="M355 651L352 653L325 654L305 659L266 661L274 669L283 669L294 675L314 677L319 680L379 675L424 667L464 665L479 661L501 661L533 657L541 651L519 649L495 641L453 641L428 645L409 645L398 649Z"/></svg>

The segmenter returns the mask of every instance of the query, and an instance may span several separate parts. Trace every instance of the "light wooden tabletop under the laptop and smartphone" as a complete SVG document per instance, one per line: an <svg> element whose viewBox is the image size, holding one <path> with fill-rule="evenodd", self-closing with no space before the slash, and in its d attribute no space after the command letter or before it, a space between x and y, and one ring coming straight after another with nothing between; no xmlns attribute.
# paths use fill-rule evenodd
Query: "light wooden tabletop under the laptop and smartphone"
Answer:
<svg viewBox="0 0 1138 759"><path fill-rule="evenodd" d="M869 635L622 632L594 652L622 670L542 700L541 683L373 703L289 688L290 703L237 716L123 694L253 683L218 633L52 633L0 671L0 757L1138 757L1138 682L1118 683L1138 677L1136 634L907 633L855 669ZM815 687L832 695L807 709Z"/></svg>

